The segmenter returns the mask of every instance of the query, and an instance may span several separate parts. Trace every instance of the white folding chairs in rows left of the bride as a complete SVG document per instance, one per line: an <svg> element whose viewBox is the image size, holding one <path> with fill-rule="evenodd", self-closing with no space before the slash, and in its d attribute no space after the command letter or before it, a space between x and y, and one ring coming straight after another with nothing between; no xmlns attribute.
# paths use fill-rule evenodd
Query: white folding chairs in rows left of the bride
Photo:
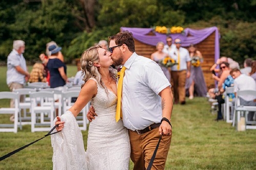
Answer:
<svg viewBox="0 0 256 170"><path fill-rule="evenodd" d="M65 113L74 104L72 98L77 98L80 92L80 87L74 88L46 88L38 89L23 88L16 89L14 92L0 92L0 99L15 100L14 108L0 108L0 114L14 114L14 124L1 124L0 132L17 132L19 123L20 129L22 125L31 124L31 132L49 131L53 118L56 116L56 109L58 115ZM21 102L20 95L24 96L24 102ZM54 97L54 95L57 96ZM58 99L58 101L56 101ZM77 116L77 122L81 130L87 130L86 113L89 109L86 105L81 113ZM27 113L30 110L30 115ZM23 110L23 115L21 111ZM39 121L40 120L40 121ZM5 127L5 128L2 128Z"/></svg>

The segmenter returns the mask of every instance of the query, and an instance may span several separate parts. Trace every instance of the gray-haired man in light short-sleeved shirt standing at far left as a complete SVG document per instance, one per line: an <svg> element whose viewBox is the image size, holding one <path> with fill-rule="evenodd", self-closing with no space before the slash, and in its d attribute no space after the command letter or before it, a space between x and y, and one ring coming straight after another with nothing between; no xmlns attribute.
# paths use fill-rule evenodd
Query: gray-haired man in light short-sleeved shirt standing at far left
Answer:
<svg viewBox="0 0 256 170"><path fill-rule="evenodd" d="M7 57L7 85L11 91L23 88L30 74L27 69L26 60L23 57L25 51L25 42L23 40L14 40L12 52ZM25 79L26 78L26 79ZM22 99L20 99L22 100ZM11 100L10 107L14 107L14 101ZM14 122L14 115L10 117Z"/></svg>

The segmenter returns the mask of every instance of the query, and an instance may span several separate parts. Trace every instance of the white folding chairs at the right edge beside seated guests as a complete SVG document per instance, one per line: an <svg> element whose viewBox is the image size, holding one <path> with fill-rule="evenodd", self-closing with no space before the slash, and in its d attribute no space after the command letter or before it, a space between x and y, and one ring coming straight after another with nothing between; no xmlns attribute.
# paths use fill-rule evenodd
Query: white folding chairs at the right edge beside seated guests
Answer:
<svg viewBox="0 0 256 170"><path fill-rule="evenodd" d="M249 111L256 112L256 106L243 106L240 104L241 96L251 95L256 99L256 90L239 90L236 93L236 98L233 102L229 100L230 93L233 93L233 87L227 87L225 89L225 103L222 105L223 118L227 123L232 123L232 126L238 130L238 124L240 123L241 116L245 117L245 129L256 129L256 121L248 120Z"/></svg>

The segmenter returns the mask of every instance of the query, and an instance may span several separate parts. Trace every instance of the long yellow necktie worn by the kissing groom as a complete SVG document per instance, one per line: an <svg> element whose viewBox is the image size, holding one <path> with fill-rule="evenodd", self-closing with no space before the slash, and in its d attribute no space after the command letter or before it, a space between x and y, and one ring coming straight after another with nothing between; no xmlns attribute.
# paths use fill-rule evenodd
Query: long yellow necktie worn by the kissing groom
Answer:
<svg viewBox="0 0 256 170"><path fill-rule="evenodd" d="M121 99L122 99L122 85L123 85L123 76L124 76L124 70L126 69L125 66L122 67L120 71L120 77L118 80L117 85L117 106L116 106L116 122L122 118L122 110L121 110Z"/></svg>

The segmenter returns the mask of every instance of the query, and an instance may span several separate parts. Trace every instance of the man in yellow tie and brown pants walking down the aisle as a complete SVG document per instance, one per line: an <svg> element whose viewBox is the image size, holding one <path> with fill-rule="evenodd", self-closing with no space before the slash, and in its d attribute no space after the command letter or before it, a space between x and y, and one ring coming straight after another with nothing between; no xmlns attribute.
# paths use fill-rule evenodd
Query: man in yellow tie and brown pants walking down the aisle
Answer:
<svg viewBox="0 0 256 170"><path fill-rule="evenodd" d="M181 40L179 38L174 40L176 48L172 48L170 57L172 57L178 64L172 66L171 77L173 79L172 90L174 93L175 103L185 104L185 83L186 78L190 76L190 57L186 48L181 47Z"/></svg>

